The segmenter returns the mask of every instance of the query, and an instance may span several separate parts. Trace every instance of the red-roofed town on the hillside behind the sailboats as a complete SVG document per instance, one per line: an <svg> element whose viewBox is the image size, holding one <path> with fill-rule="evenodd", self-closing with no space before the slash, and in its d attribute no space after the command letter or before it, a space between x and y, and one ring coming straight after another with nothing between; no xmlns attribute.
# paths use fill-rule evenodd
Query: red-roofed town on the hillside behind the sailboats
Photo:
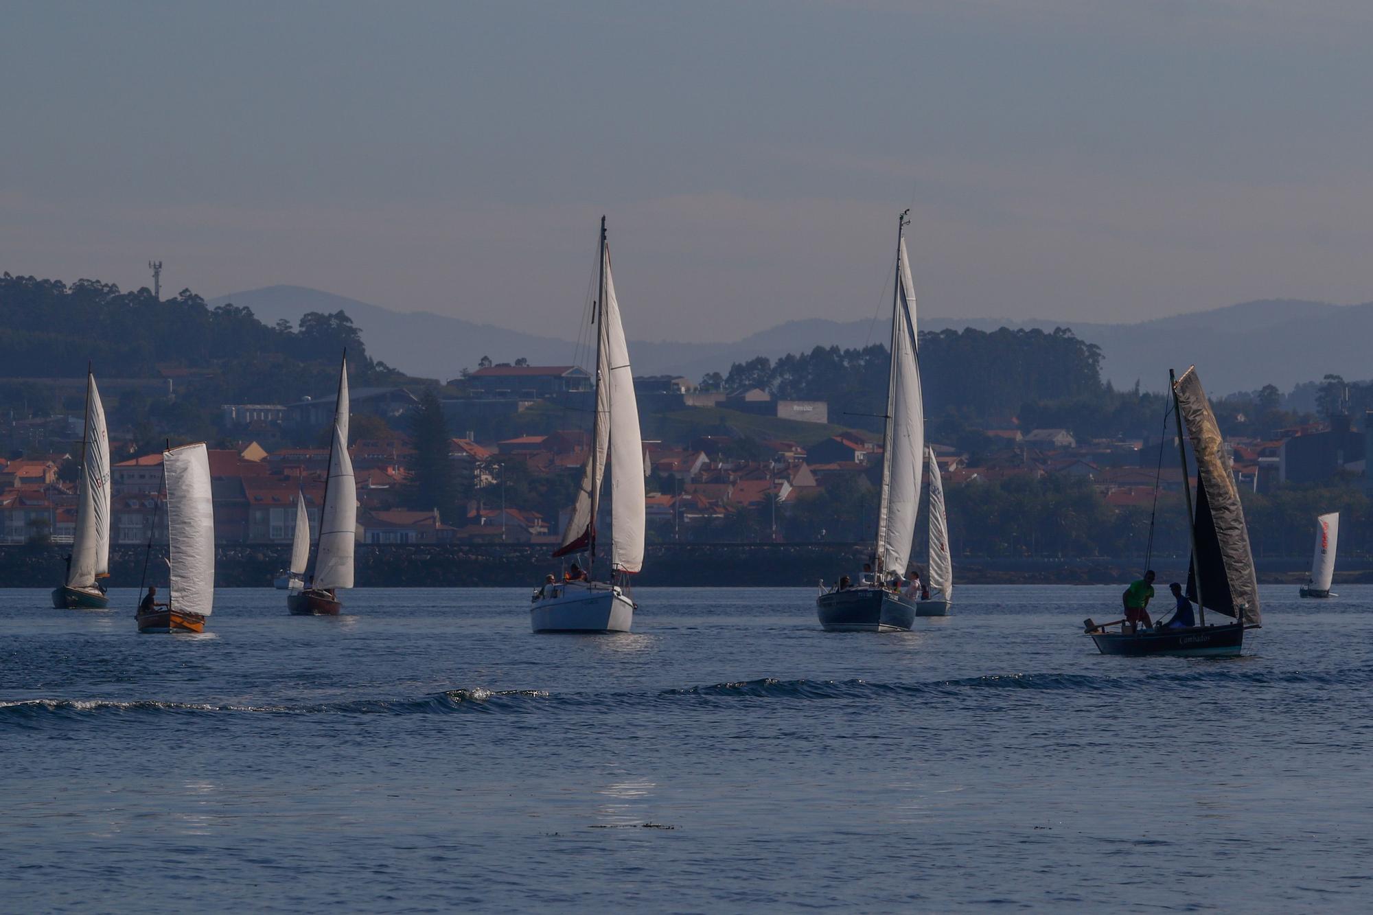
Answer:
<svg viewBox="0 0 1373 915"><path fill-rule="evenodd" d="M522 360L523 361L523 360ZM718 379L717 381L722 381ZM766 389L707 390L686 378L634 379L644 414L649 541L862 541L875 523L881 437L831 425L829 404L784 400ZM119 401L139 386L110 379L113 541L165 541L157 525L161 442L121 429ZM173 387L174 390L174 387ZM452 387L449 390L453 390ZM552 548L590 448L590 378L575 365L483 364L456 396L432 389L364 386L351 392L360 544L519 543ZM0 543L70 543L76 523L80 401L47 416L0 418ZM288 404L222 404L214 418L210 473L220 544L286 547L303 499L317 525L330 397ZM437 414L435 414L437 409ZM426 414L426 429L420 418ZM699 415L699 422L692 416ZM437 426L435 426L437 423ZM949 489L956 555L1053 555L1138 550L1141 518L1178 499L1184 481L1171 434L1079 438L1017 418L965 429L931 444ZM439 431L435 433L435 429ZM1347 409L1321 420L1230 436L1241 490L1362 489L1373 415L1355 430ZM287 444L309 441L306 447ZM1160 459L1160 451L1164 453ZM1190 463L1190 462L1189 462ZM1012 530L994 499L1038 492L1028 515L1057 515L1070 493L1086 499L1082 530ZM1027 489L1028 488L1028 489ZM1009 493L1009 495L1008 495ZM1017 523L1024 525L1024 519ZM1256 550L1265 519L1254 519ZM1277 529L1278 522L1273 522ZM1273 532L1277 536L1277 532ZM1056 539L1057 537L1057 539ZM1076 540L1074 540L1076 537ZM1115 541L1112 543L1112 537ZM1304 550L1299 525L1292 550ZM1280 551L1287 541L1271 541ZM1081 555L1081 552L1079 552Z"/></svg>

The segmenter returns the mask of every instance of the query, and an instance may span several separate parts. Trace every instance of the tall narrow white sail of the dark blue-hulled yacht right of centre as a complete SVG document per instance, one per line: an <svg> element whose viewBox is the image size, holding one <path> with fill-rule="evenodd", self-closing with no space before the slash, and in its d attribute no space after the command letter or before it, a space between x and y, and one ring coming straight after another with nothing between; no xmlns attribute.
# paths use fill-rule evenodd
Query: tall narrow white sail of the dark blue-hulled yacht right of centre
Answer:
<svg viewBox="0 0 1373 915"><path fill-rule="evenodd" d="M912 291L905 236L898 243L897 261L887 434L883 441L881 500L877 508L877 561L884 570L905 573L916 534L921 464L925 455L925 416L916 342L916 297Z"/></svg>

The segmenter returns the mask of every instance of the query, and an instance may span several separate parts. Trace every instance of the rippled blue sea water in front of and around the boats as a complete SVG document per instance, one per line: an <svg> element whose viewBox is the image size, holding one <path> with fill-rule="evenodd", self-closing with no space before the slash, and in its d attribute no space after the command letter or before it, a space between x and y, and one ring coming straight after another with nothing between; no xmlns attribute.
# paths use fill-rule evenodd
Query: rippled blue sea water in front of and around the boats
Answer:
<svg viewBox="0 0 1373 915"><path fill-rule="evenodd" d="M827 635L814 591L358 589L203 636L0 591L7 911L1363 910L1373 587L1265 588L1233 661L1100 657L1118 587L962 587Z"/></svg>

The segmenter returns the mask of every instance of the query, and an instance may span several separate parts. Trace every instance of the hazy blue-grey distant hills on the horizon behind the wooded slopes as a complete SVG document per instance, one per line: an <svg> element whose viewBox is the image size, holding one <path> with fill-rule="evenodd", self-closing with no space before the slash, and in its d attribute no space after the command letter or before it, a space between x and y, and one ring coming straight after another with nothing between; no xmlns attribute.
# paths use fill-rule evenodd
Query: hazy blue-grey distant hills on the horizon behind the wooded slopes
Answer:
<svg viewBox="0 0 1373 915"><path fill-rule="evenodd" d="M269 286L221 295L210 305L247 305L266 323L298 321L305 312L347 312L362 330L368 353L413 375L453 378L464 367L475 368L482 356L512 361L560 364L573 359L574 343L555 337L478 324L430 312L393 312L301 286ZM1282 390L1319 379L1326 372L1348 379L1373 376L1368 342L1373 341L1373 302L1332 305L1303 300L1241 302L1205 312L1175 315L1138 324L1097 324L1054 320L956 320L921 319L921 330L978 330L1071 327L1081 338L1101 346L1103 375L1118 387L1138 379L1145 389L1160 390L1168 368L1196 363L1207 390L1225 394L1273 383ZM674 374L700 378L726 372L730 363L754 356L776 359L814 346L864 346L881 342L884 326L870 319L832 321L795 320L721 343L634 341L634 368L641 374Z"/></svg>

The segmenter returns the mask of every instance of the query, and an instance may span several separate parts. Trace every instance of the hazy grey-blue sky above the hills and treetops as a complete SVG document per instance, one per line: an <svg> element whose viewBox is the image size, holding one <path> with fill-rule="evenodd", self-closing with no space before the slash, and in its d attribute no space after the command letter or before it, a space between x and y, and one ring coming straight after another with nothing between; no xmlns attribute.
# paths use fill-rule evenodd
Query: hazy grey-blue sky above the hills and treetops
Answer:
<svg viewBox="0 0 1373 915"><path fill-rule="evenodd" d="M0 269L575 337L1373 300L1373 4L0 1Z"/></svg>

